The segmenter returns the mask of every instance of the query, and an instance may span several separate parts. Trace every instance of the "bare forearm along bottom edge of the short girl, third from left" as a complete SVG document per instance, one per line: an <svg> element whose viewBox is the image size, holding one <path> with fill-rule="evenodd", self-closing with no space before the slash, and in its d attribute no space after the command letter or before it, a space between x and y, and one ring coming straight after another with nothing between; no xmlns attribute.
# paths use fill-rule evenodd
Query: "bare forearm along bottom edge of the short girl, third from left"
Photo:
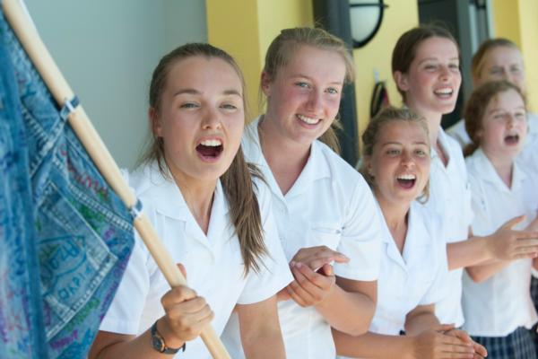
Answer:
<svg viewBox="0 0 538 359"><path fill-rule="evenodd" d="M352 337L333 329L334 344L338 355L385 359L412 358L412 338L405 336L385 336L367 332Z"/></svg>

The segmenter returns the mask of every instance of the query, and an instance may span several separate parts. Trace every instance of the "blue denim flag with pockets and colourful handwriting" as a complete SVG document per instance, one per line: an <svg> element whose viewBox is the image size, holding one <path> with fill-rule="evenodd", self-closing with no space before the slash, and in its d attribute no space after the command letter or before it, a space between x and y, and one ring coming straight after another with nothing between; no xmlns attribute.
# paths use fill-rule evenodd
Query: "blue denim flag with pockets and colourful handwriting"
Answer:
<svg viewBox="0 0 538 359"><path fill-rule="evenodd" d="M0 357L83 358L133 249L133 218L3 13L0 36Z"/></svg>

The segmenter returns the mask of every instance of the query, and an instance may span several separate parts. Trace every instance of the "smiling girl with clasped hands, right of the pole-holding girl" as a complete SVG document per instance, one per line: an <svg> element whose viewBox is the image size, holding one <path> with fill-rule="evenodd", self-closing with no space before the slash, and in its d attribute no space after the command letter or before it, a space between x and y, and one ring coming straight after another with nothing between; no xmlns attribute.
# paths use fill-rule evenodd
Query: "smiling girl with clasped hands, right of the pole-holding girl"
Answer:
<svg viewBox="0 0 538 359"><path fill-rule="evenodd" d="M334 358L331 327L360 335L375 309L380 215L360 174L324 144L334 144L331 126L352 76L342 40L321 29L281 31L261 76L265 114L243 140L271 188L295 278L279 295L289 358ZM227 330L235 327L232 320Z"/></svg>

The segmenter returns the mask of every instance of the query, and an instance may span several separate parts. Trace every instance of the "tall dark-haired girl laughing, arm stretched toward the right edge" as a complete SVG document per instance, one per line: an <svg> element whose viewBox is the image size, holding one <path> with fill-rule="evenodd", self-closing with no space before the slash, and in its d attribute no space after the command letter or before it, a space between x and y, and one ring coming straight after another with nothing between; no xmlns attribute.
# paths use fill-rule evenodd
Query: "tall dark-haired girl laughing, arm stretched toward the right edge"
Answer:
<svg viewBox="0 0 538 359"><path fill-rule="evenodd" d="M529 239L538 233L513 231L510 223L484 237L469 231L473 210L464 156L459 144L440 127L442 115L456 106L462 80L459 49L452 35L436 26L406 31L396 43L392 67L404 105L426 118L430 131L430 199L424 206L442 219L450 270L447 296L436 303L436 313L442 323L461 327L463 268L491 258L532 258L538 247L537 241Z"/></svg>

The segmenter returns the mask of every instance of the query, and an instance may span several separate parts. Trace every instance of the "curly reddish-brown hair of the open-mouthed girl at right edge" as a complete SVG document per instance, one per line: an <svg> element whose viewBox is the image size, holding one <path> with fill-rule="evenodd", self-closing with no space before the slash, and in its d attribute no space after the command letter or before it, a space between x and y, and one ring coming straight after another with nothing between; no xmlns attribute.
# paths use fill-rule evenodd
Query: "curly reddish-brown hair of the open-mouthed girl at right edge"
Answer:
<svg viewBox="0 0 538 359"><path fill-rule="evenodd" d="M482 121L488 104L500 92L507 92L508 90L514 90L519 93L526 107L525 95L514 83L509 83L506 80L483 83L473 91L469 100L467 100L464 109L465 130L469 134L469 137L471 137L471 143L467 144L464 148L465 157L470 156L480 147L481 141L479 134L482 130Z"/></svg>

